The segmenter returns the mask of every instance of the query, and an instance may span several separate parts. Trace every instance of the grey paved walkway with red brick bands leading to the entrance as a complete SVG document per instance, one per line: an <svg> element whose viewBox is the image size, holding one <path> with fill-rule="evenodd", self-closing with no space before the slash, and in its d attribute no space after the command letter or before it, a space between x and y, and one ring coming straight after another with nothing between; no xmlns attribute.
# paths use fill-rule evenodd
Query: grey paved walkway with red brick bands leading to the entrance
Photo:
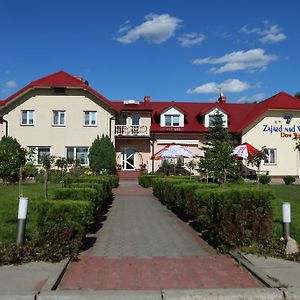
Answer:
<svg viewBox="0 0 300 300"><path fill-rule="evenodd" d="M70 264L60 290L255 288L231 258L136 183L120 184L95 245Z"/></svg>

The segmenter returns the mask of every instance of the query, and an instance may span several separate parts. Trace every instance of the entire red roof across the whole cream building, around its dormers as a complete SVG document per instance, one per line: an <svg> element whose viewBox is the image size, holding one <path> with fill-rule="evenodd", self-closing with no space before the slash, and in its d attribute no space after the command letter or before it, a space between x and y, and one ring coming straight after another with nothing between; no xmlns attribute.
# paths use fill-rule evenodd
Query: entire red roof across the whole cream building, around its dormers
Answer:
<svg viewBox="0 0 300 300"><path fill-rule="evenodd" d="M242 132L247 126L255 121L260 115L269 109L282 110L300 110L300 100L284 92L264 100L258 104L239 104L239 103L200 103L200 102L155 102L145 103L141 101L139 104L124 104L122 101L110 101L103 95L92 89L82 80L71 76L70 74L59 71L32 81L27 86L17 91L7 99L0 101L1 106L14 101L19 96L37 87L71 87L81 88L94 95L100 101L106 103L111 109L120 113L121 111L145 111L152 114L151 132L206 132L201 117L214 108L220 108L229 117L229 131ZM184 114L184 127L161 127L160 114L168 108L175 107Z"/></svg>

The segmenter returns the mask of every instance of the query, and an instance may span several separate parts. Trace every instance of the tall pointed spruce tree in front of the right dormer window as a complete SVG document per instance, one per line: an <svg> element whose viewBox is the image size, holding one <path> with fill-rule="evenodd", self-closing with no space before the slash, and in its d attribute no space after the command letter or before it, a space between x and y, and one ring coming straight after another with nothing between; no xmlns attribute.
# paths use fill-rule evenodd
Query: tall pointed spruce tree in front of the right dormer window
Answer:
<svg viewBox="0 0 300 300"><path fill-rule="evenodd" d="M202 149L204 157L200 159L199 169L206 174L207 180L211 177L226 184L228 176L236 175L238 162L234 158L231 138L221 114L214 116Z"/></svg>

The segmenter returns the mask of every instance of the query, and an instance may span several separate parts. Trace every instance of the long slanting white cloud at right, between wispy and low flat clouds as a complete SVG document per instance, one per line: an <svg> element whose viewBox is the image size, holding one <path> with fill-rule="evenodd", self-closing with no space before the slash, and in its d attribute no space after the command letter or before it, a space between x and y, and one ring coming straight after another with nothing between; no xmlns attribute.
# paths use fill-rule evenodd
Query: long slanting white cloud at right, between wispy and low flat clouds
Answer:
<svg viewBox="0 0 300 300"><path fill-rule="evenodd" d="M265 70L271 61L277 59L277 55L265 54L265 51L263 49L258 48L251 49L248 51L235 51L217 58L198 58L193 61L193 64L223 65L221 67L211 68L210 71L214 74L242 70L255 72Z"/></svg>

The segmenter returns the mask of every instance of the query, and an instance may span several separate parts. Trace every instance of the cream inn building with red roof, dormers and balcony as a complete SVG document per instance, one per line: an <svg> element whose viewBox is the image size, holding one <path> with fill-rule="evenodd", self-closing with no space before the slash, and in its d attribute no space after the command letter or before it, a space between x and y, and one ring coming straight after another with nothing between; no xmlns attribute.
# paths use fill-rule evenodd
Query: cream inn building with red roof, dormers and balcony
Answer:
<svg viewBox="0 0 300 300"><path fill-rule="evenodd" d="M111 101L87 81L60 71L35 80L0 101L0 136L15 137L37 151L36 163L51 154L79 158L88 165L88 149L97 135L108 135L123 172L146 167L156 171L151 157L164 146L184 145L202 155L204 135L216 113L238 143L265 147L262 170L273 177L300 175L294 137L300 136L300 100L284 92L257 104Z"/></svg>

